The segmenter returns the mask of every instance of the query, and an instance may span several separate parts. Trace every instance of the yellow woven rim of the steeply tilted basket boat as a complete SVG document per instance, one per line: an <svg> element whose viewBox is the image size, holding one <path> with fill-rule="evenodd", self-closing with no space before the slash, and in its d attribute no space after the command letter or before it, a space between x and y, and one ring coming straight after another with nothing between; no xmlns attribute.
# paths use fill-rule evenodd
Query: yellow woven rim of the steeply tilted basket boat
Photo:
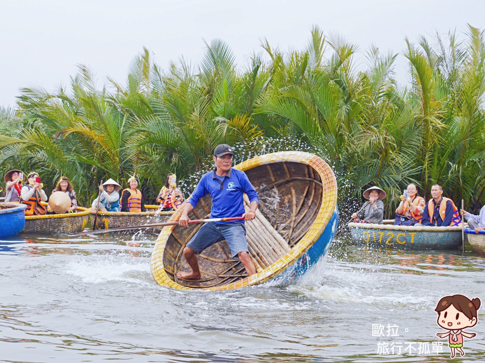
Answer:
<svg viewBox="0 0 485 363"><path fill-rule="evenodd" d="M165 250L165 245L174 228L174 226L166 226L162 229L162 232L157 238L151 257L151 271L157 284L180 290L202 291L231 290L240 287L262 284L287 269L304 253L306 253L311 246L313 246L315 241L322 235L323 230L335 212L335 206L337 205L337 180L335 179L335 174L328 164L318 156L299 151L286 151L261 155L259 157L244 161L241 164L234 166L234 168L247 171L260 165L272 164L275 162L300 162L307 164L320 175L322 180L322 204L320 205L318 215L305 236L302 237L302 239L290 250L290 252L281 257L271 266L259 271L255 275L245 277L244 279L234 283L209 288L186 287L173 281L166 274L163 266L163 252ZM182 208L179 208L172 218L170 218L170 221L178 221L181 215Z"/></svg>

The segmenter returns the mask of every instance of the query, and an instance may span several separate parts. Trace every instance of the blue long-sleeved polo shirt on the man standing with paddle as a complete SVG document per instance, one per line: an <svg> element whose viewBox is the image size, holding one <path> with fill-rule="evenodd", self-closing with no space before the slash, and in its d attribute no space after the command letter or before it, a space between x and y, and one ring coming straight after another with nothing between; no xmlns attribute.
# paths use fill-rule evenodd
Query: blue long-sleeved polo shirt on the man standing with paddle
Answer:
<svg viewBox="0 0 485 363"><path fill-rule="evenodd" d="M213 171L202 175L199 184L187 200L193 207L199 199L209 194L212 198L210 218L241 217L244 214L244 200L242 195L247 194L249 202L259 202L258 193L240 170L230 168L221 182ZM244 223L244 221L238 221ZM217 224L231 223L231 221L217 222Z"/></svg>

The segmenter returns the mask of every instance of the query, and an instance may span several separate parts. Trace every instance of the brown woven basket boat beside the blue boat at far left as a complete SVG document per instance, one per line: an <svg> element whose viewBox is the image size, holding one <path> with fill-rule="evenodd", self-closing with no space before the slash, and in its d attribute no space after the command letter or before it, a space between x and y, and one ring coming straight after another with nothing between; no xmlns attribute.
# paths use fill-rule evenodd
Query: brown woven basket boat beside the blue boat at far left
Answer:
<svg viewBox="0 0 485 363"><path fill-rule="evenodd" d="M87 224L88 216L89 209L83 207L78 207L75 213L25 216L22 233L62 236L81 232Z"/></svg>

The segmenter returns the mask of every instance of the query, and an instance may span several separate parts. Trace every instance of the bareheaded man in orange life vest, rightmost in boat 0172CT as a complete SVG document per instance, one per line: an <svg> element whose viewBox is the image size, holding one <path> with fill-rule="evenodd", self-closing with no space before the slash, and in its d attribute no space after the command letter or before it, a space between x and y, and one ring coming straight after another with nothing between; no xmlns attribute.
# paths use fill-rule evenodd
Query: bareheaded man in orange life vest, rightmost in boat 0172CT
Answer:
<svg viewBox="0 0 485 363"><path fill-rule="evenodd" d="M421 224L435 227L461 226L458 209L450 198L443 197L443 188L439 184L431 187L431 199L424 208Z"/></svg>

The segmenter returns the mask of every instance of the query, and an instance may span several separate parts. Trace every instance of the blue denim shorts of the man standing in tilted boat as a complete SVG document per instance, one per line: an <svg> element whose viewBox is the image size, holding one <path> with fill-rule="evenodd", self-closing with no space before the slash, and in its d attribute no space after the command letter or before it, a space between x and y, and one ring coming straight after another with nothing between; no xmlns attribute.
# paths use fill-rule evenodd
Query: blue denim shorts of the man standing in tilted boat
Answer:
<svg viewBox="0 0 485 363"><path fill-rule="evenodd" d="M226 240L233 258L240 252L249 252L246 241L246 227L239 222L225 224L206 223L187 243L187 247L199 254L213 244Z"/></svg>

